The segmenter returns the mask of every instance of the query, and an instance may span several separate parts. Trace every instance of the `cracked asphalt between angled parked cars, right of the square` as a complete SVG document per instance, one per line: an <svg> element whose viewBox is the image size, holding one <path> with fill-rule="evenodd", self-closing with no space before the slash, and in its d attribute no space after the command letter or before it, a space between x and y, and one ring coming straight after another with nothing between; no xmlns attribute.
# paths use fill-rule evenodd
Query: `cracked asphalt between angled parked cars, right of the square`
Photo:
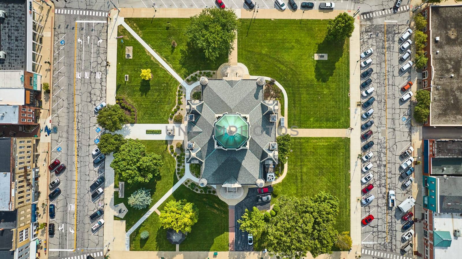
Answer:
<svg viewBox="0 0 462 259"><path fill-rule="evenodd" d="M404 94L400 88L411 80L411 69L399 71L401 65L410 60L399 60L401 52L398 51L401 45L398 37L407 28L407 25L396 23L361 25L361 52L368 48L374 50L370 56L372 64L362 71L367 68L374 70L370 77L370 86L374 87L375 91L370 96L376 98L371 106L374 109L373 115L363 120L364 123L373 119L373 135L367 141L362 141L363 145L368 141L374 141L374 146L369 150L374 153L374 157L370 159L374 165L370 171L374 178L363 184L362 188L369 183L373 184L374 188L365 196L373 194L375 199L363 206L361 213L362 218L371 214L375 219L370 224L362 226L361 238L364 248L393 253L400 253L403 245L401 235L404 231L401 227L404 221L401 220L403 213L396 207L388 207L387 195L389 190L394 190L396 205L399 205L411 194L411 187L404 188L403 179L399 178L399 167L403 162L399 155L410 146L411 141L411 101L399 100ZM362 97L362 101L370 96ZM367 130L363 132L365 131ZM363 173L363 176L365 174L367 173Z"/></svg>

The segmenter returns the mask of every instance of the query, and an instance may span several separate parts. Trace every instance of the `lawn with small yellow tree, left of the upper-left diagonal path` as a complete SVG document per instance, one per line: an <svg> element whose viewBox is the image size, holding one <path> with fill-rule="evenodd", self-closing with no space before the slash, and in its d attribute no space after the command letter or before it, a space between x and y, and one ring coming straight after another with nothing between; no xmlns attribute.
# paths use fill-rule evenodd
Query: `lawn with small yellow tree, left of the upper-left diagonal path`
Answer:
<svg viewBox="0 0 462 259"><path fill-rule="evenodd" d="M168 123L170 112L176 105L179 82L122 25L118 28L118 35L124 37L123 43L119 40L117 44L116 94L135 106L137 123ZM133 47L133 59L125 58L125 47L129 46ZM141 69L151 69L152 79L142 80ZM128 81L125 81L125 75L128 75Z"/></svg>

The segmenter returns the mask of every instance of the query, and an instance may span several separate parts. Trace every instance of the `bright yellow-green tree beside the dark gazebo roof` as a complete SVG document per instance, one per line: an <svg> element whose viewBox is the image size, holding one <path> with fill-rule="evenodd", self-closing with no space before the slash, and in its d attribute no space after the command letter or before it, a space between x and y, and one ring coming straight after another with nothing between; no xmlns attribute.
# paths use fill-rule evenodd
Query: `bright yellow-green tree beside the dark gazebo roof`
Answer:
<svg viewBox="0 0 462 259"><path fill-rule="evenodd" d="M160 212L159 219L164 229L189 233L199 219L199 210L192 202L170 200Z"/></svg>

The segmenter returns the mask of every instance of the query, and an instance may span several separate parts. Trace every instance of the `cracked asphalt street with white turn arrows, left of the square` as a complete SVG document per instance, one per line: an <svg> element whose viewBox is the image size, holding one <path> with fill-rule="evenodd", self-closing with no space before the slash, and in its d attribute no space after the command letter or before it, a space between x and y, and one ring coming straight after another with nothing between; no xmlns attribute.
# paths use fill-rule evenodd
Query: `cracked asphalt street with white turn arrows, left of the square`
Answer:
<svg viewBox="0 0 462 259"><path fill-rule="evenodd" d="M104 173L93 165L91 151L103 129L96 126L94 107L105 101L107 24L104 17L55 14L52 87L51 158L67 165L59 176L61 195L56 204L56 234L49 237L49 257L91 253L103 248L103 229L91 231L89 215L103 208L103 195L91 199L90 185ZM51 173L50 179L54 179Z"/></svg>

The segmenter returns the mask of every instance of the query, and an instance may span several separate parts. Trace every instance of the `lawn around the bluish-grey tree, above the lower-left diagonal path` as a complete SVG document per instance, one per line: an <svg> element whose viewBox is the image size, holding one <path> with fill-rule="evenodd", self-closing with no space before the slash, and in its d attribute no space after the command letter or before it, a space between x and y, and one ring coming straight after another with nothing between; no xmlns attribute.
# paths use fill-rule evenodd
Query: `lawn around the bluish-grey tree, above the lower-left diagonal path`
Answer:
<svg viewBox="0 0 462 259"><path fill-rule="evenodd" d="M146 213L151 206L148 206L145 209L137 210L128 205L128 197L139 188L147 188L151 190L152 203L156 203L167 191L173 187L177 182L175 176L175 159L168 152L167 141L161 140L142 140L143 144L146 145L146 152L156 153L162 156L162 161L164 161L164 166L160 169L160 176L153 177L151 181L142 184L125 184L125 198L118 198L118 193L115 193L114 204L119 204L123 202L128 208L128 212L123 219L114 217L118 220L126 220L126 229L129 230L140 218ZM115 176L115 185L119 185L119 175Z"/></svg>

